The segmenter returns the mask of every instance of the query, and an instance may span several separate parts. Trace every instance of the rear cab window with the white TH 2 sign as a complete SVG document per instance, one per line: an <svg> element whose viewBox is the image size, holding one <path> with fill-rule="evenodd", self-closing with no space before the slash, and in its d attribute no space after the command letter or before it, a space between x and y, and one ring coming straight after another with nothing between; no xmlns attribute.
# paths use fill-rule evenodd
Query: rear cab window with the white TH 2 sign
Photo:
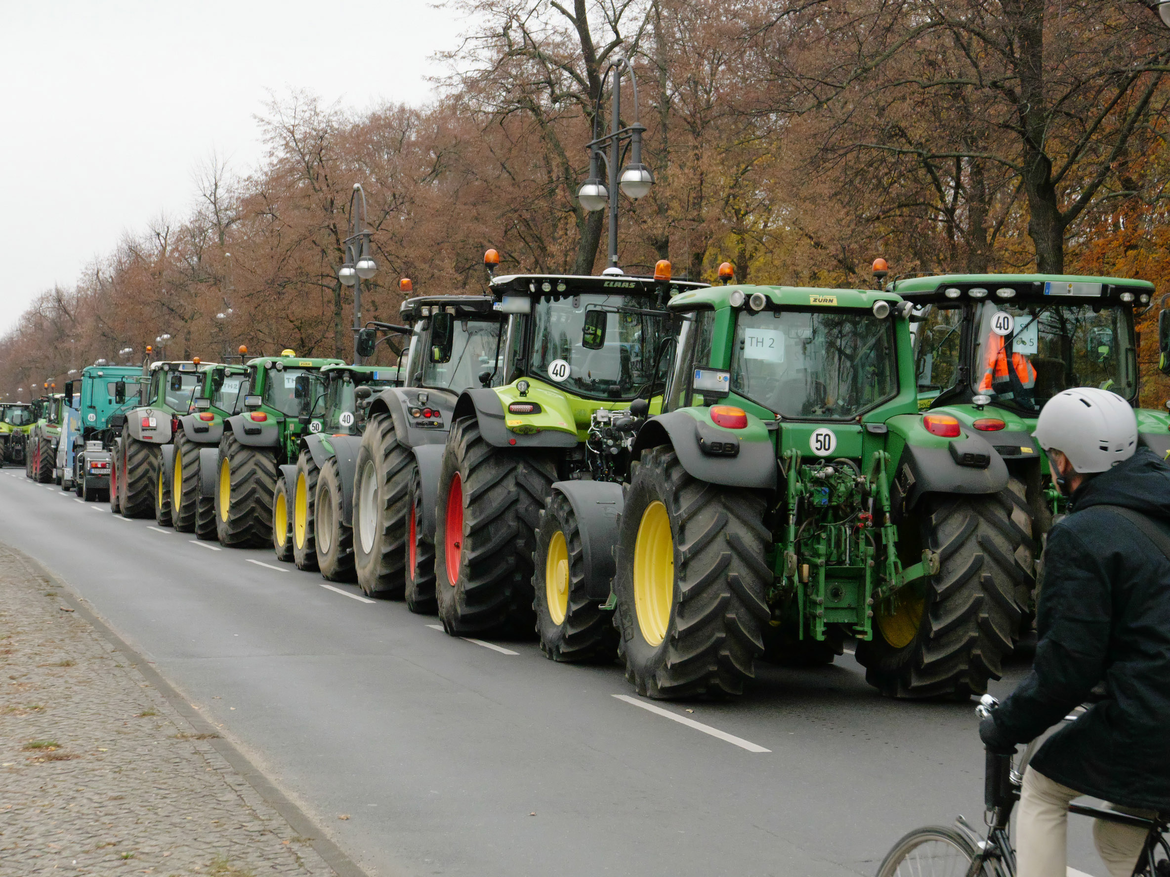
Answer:
<svg viewBox="0 0 1170 877"><path fill-rule="evenodd" d="M731 389L784 417L846 420L897 393L894 322L869 311L739 313Z"/></svg>

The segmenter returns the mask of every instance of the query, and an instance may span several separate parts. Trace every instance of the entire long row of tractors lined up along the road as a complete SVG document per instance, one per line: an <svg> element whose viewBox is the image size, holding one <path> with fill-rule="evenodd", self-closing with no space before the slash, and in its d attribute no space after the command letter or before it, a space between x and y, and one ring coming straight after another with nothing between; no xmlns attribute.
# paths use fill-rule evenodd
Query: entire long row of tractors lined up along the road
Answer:
<svg viewBox="0 0 1170 877"><path fill-rule="evenodd" d="M359 352L388 345L388 368L289 350L95 366L76 427L71 389L44 402L29 467L54 428L76 435L62 486L115 512L270 546L453 636L535 629L549 658L620 660L649 697L737 695L757 661L853 642L883 693L964 698L1031 628L1062 513L1039 410L1073 386L1136 403L1154 288L875 269L874 290L732 285L729 267L711 286L665 261L491 276L367 324ZM1170 416L1137 422L1165 456Z"/></svg>

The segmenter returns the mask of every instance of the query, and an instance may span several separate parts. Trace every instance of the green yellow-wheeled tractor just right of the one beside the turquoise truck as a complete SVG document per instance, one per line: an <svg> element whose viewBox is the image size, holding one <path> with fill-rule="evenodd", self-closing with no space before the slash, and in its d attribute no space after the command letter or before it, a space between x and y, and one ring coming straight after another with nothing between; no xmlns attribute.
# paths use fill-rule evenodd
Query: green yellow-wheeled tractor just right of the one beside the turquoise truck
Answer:
<svg viewBox="0 0 1170 877"><path fill-rule="evenodd" d="M174 436L161 448L156 488L156 519L197 539L216 539L215 486L219 443L227 417L239 414L248 394L248 368L219 362L199 365L191 413L177 419Z"/></svg>

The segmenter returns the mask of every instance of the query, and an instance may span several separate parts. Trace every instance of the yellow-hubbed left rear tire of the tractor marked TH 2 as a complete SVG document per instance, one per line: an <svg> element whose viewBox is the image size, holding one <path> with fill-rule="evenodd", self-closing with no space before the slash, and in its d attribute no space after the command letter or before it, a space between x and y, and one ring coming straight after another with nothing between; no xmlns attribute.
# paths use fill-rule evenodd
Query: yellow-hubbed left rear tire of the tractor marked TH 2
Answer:
<svg viewBox="0 0 1170 877"><path fill-rule="evenodd" d="M668 446L633 467L618 531L618 651L653 698L743 692L764 651L766 503L687 475Z"/></svg>

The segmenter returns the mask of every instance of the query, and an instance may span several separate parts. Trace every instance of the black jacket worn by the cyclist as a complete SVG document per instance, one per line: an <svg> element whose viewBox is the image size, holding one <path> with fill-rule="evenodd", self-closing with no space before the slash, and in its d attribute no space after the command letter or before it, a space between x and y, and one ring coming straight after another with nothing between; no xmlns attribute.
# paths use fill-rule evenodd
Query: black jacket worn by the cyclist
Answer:
<svg viewBox="0 0 1170 877"><path fill-rule="evenodd" d="M1082 484L1048 533L1027 678L992 714L1026 743L1104 681L1106 698L1044 743L1045 776L1129 807L1170 812L1170 560L1101 504L1170 533L1170 465L1142 448Z"/></svg>

